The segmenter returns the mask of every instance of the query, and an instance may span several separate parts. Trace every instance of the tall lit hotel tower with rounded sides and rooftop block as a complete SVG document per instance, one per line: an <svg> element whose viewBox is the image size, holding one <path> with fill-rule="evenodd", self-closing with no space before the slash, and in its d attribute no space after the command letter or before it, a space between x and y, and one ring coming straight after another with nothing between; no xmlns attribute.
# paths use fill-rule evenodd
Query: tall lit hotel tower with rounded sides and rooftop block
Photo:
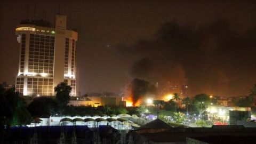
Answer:
<svg viewBox="0 0 256 144"><path fill-rule="evenodd" d="M19 73L15 88L23 95L53 96L66 82L76 96L77 32L66 29L66 16L55 16L55 28L44 21L23 21L15 31L20 43Z"/></svg>

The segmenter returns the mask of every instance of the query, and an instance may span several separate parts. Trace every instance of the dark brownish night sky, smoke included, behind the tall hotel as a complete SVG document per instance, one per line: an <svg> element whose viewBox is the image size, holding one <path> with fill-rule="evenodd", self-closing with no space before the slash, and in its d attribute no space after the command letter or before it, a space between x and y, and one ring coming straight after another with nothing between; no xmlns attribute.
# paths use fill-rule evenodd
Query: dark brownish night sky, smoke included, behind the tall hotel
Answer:
<svg viewBox="0 0 256 144"><path fill-rule="evenodd" d="M190 95L245 95L256 84L255 7L253 1L1 1L0 82L13 84L18 73L15 27L44 11L50 22L55 12L66 14L78 30L82 94L119 93L138 77L188 84Z"/></svg>

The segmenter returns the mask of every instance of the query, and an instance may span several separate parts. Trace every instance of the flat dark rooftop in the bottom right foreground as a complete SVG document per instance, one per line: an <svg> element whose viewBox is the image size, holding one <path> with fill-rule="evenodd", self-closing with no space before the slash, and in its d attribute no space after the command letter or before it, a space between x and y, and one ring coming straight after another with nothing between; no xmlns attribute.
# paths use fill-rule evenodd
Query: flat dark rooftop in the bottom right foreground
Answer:
<svg viewBox="0 0 256 144"><path fill-rule="evenodd" d="M140 127L141 128L141 127ZM136 143L145 141L164 143L164 142L186 142L186 138L197 138L204 142L218 143L218 140L212 140L213 137L225 137L231 140L233 137L241 137L242 139L256 137L255 128L245 128L243 126L217 126L217 127L172 127L171 129L139 129L134 130L134 139ZM206 138L205 138L206 137ZM207 138L209 137L209 138ZM207 141L208 140L208 141ZM255 139L253 139L255 140ZM252 141L253 141L252 140ZM224 142L225 143L225 142ZM227 142L229 143L229 141ZM253 143L253 142L252 142Z"/></svg>

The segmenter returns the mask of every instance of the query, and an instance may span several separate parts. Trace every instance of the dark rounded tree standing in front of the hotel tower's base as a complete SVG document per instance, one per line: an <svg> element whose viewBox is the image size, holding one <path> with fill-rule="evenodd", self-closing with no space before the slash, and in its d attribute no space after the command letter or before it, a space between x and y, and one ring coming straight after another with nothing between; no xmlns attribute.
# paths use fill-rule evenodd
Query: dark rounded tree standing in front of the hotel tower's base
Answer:
<svg viewBox="0 0 256 144"><path fill-rule="evenodd" d="M70 92L72 88L67 85L67 83L60 83L56 87L54 87L54 91L57 92L56 94L56 100L62 109L63 107L68 105L68 102L70 100Z"/></svg>

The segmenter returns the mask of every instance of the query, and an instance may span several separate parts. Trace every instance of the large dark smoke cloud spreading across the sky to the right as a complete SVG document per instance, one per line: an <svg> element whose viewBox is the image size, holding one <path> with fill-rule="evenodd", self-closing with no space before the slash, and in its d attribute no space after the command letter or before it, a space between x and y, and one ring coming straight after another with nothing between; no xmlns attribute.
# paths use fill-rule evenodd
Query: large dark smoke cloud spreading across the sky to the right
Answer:
<svg viewBox="0 0 256 144"><path fill-rule="evenodd" d="M256 29L236 31L226 20L205 25L180 25L173 20L154 40L118 47L136 59L131 76L151 83L188 84L197 93L233 96L247 94L256 83ZM250 85L249 85L250 84Z"/></svg>

